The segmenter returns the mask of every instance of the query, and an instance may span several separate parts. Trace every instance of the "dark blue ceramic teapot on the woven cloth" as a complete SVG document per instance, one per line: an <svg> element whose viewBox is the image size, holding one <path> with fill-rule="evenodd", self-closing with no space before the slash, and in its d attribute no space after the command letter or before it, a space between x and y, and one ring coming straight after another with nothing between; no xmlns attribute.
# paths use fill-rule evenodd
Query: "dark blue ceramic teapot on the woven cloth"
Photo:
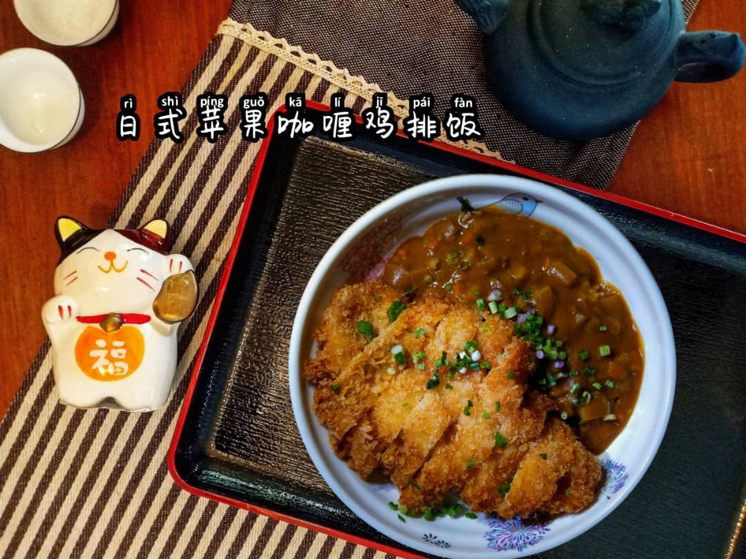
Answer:
<svg viewBox="0 0 746 559"><path fill-rule="evenodd" d="M458 0L484 31L487 73L519 120L588 139L642 118L673 80L735 75L737 34L686 33L680 0Z"/></svg>

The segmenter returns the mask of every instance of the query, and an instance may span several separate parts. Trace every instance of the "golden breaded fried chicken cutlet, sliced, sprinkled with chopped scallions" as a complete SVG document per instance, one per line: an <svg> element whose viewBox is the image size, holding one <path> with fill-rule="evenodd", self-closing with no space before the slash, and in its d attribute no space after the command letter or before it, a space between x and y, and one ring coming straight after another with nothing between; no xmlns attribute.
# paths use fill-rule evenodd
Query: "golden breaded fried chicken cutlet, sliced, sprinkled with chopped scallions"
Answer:
<svg viewBox="0 0 746 559"><path fill-rule="evenodd" d="M382 282L345 285L316 332L304 375L339 458L389 476L414 511L453 492L502 517L586 508L601 467L528 390L534 364L513 323L439 291L392 315L398 300Z"/></svg>

